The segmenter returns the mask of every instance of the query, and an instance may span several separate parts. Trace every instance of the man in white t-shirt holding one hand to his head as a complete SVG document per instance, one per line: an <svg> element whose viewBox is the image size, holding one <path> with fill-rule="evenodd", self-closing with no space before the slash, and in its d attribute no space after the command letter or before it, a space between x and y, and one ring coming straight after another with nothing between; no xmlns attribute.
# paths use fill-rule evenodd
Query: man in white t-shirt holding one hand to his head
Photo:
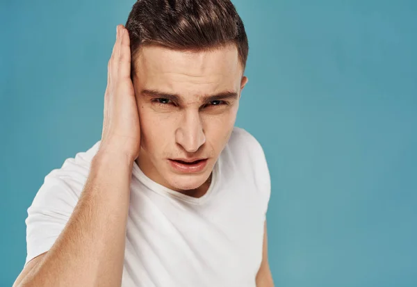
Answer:
<svg viewBox="0 0 417 287"><path fill-rule="evenodd" d="M14 286L273 286L268 166L234 127L247 51L230 1L135 3L101 140L45 177Z"/></svg>

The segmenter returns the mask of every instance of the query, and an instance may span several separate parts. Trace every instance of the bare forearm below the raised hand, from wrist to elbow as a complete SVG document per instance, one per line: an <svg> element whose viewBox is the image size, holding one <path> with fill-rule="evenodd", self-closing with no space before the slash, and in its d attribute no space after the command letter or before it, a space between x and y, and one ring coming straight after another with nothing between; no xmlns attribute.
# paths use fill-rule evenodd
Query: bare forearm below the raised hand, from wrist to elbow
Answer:
<svg viewBox="0 0 417 287"><path fill-rule="evenodd" d="M132 165L116 154L93 158L65 229L21 286L120 286Z"/></svg>

